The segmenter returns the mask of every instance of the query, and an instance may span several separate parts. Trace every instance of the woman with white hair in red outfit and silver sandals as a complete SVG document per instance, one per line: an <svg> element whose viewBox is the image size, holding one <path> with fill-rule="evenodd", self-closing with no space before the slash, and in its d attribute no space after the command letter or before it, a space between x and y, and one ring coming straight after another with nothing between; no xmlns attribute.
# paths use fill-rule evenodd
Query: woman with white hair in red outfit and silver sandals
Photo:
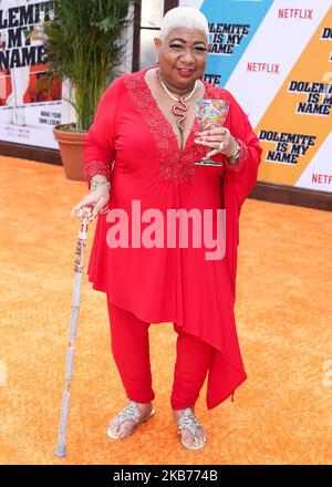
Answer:
<svg viewBox="0 0 332 487"><path fill-rule="evenodd" d="M207 435L195 403L207 373L208 408L247 377L234 313L238 224L261 149L232 95L201 81L208 23L199 10L170 10L155 45L158 66L122 75L101 100L84 143L91 191L73 214L91 207L93 217L98 215L87 273L93 289L106 293L112 353L129 400L110 422L108 436L128 436L154 415L148 328L173 322L177 358L170 405L181 444L198 449ZM228 106L224 125L200 131L199 100ZM183 213L175 240L174 227L167 238L160 231L170 209ZM217 229L224 211L224 251L211 251L211 240L221 246L219 232L201 245L180 240L188 224L184 215L193 216L194 238L206 210Z"/></svg>

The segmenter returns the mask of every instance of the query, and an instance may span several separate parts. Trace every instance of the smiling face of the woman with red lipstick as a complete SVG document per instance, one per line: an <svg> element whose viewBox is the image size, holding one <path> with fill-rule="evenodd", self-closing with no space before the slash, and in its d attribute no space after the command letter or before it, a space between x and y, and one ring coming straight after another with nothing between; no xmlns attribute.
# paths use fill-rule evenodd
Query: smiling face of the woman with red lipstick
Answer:
<svg viewBox="0 0 332 487"><path fill-rule="evenodd" d="M175 91L190 89L206 66L208 41L203 31L174 29L163 41L155 39L160 74Z"/></svg>

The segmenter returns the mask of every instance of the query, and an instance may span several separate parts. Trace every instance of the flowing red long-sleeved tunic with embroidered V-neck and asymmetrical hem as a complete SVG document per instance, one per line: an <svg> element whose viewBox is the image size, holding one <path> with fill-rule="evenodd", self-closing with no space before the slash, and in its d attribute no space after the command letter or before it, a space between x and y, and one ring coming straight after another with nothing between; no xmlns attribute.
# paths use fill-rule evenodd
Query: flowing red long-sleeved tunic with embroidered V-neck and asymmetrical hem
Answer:
<svg viewBox="0 0 332 487"><path fill-rule="evenodd" d="M106 175L111 180L110 208L128 215L127 248L107 245L108 230L118 219L111 221L110 213L98 216L87 274L93 289L106 292L114 304L141 320L176 323L212 345L206 397L210 410L247 377L234 312L238 222L241 205L257 179L261 149L247 115L231 94L205 82L205 99L229 102L225 126L240 142L241 157L236 166L221 155L212 159L224 162L224 167L195 165L207 154L206 147L194 142L195 132L199 132L197 121L180 149L144 79L145 71L125 74L108 86L85 137L87 180L94 174ZM172 208L198 208L201 214L211 209L212 220L217 210L225 208L225 257L207 260L206 251L211 248L205 242L201 248L193 245L190 226L187 248L178 239L175 247L167 248L166 228L163 247L135 247L131 228L137 215L132 213L134 200L141 205L141 216L155 208L164 221ZM136 207L133 211L138 210ZM151 225L153 219L145 221ZM142 222L142 230L146 225Z"/></svg>

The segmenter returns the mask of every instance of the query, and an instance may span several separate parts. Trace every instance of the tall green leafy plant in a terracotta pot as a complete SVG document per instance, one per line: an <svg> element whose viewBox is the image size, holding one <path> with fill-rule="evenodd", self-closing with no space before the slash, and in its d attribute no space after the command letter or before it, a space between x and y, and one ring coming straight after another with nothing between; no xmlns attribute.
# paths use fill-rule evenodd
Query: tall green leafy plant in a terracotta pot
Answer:
<svg viewBox="0 0 332 487"><path fill-rule="evenodd" d="M55 0L45 27L51 71L70 80L76 123L58 125L53 133L69 179L84 180L83 139L100 99L120 74L124 44L121 35L132 19L132 0Z"/></svg>

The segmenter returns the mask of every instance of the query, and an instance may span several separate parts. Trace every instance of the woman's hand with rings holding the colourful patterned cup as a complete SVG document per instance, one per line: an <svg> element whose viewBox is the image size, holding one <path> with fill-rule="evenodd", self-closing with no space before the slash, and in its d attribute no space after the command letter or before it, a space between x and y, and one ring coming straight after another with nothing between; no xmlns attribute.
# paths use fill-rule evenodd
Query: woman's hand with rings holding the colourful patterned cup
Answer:
<svg viewBox="0 0 332 487"><path fill-rule="evenodd" d="M212 148L203 160L206 160L216 154L224 154L230 157L236 152L236 141L228 128L212 128L211 131L196 132L196 144Z"/></svg>

